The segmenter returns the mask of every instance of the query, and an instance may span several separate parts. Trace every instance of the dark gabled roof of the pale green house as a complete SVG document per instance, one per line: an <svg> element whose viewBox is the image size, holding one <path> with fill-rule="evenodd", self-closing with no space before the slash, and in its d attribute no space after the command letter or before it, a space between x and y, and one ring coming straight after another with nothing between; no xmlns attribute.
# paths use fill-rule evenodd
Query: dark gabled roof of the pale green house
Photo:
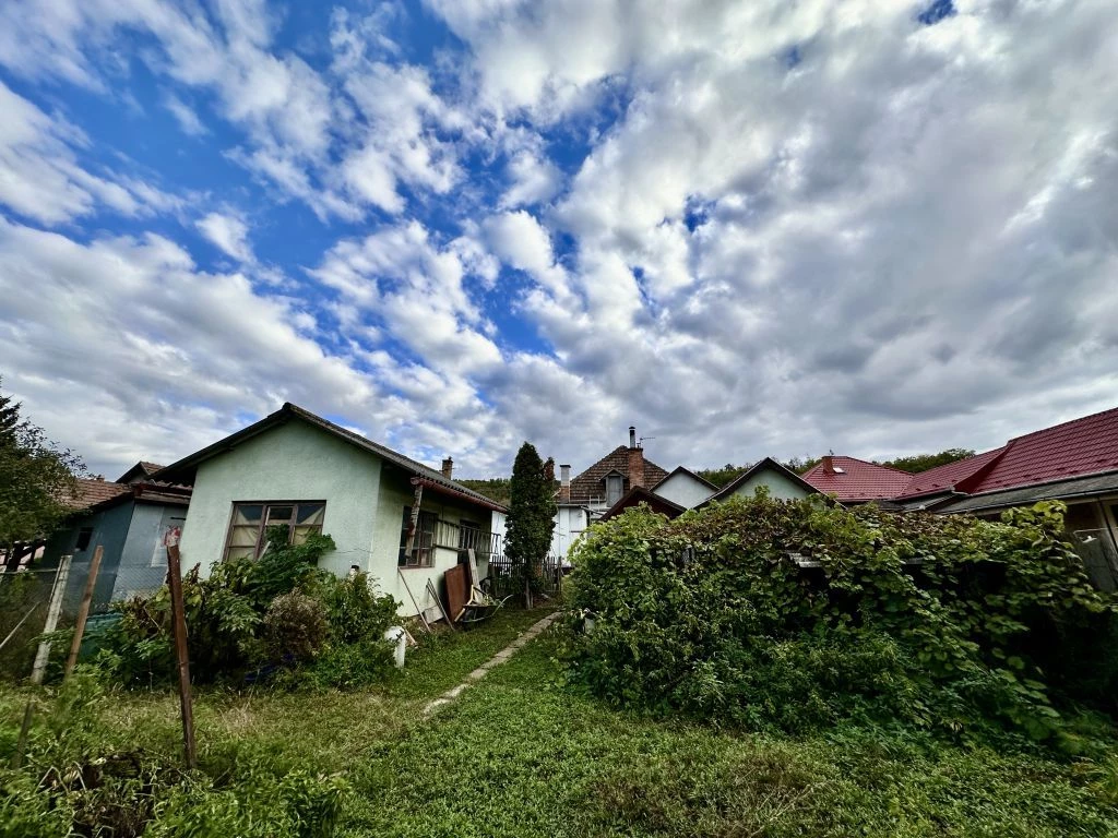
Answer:
<svg viewBox="0 0 1118 838"><path fill-rule="evenodd" d="M328 419L323 419L321 416L312 413L310 410L304 410L297 404L292 404L290 401L285 402L284 406L274 413L268 413L268 416L264 417L258 422L249 425L247 428L241 428L236 434L231 434L225 439L218 440L214 445L207 446L188 457L183 457L178 463L172 463L170 466L167 466L158 472L154 476L160 480L193 483L195 473L201 463L210 459L211 457L216 457L219 454L228 451L230 448L244 442L246 439L250 439L252 437L263 434L266 430L271 430L274 427L292 420L307 422L309 425L313 425L314 427L326 431L331 436L334 436L344 442L349 442L357 448L376 454L378 457L381 457L385 460L399 466L405 472L410 473L415 478L413 480L414 483L421 483L425 487L443 494L452 495L454 497L459 497L464 501L470 501L489 510L508 512L508 510L496 501L487 498L479 492L466 488L459 483L447 479L443 476L442 472L436 472L434 468L425 466L421 463L417 463L410 457L405 457L399 451L394 451L391 448L382 446L379 442L373 442L368 437L362 437L360 434L354 434L353 431L347 430L339 425L334 425Z"/></svg>

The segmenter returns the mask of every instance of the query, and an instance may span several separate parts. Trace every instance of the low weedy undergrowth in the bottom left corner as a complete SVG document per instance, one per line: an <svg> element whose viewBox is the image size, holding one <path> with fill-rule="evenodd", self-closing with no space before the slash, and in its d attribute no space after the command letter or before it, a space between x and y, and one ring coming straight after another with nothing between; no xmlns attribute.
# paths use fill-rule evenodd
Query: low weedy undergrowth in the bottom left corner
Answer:
<svg viewBox="0 0 1118 838"><path fill-rule="evenodd" d="M18 734L0 729L0 838L333 834L347 789L338 778L230 740L183 771L173 724L162 747L139 749L101 721L107 701L93 679L70 678L39 707L18 770Z"/></svg>

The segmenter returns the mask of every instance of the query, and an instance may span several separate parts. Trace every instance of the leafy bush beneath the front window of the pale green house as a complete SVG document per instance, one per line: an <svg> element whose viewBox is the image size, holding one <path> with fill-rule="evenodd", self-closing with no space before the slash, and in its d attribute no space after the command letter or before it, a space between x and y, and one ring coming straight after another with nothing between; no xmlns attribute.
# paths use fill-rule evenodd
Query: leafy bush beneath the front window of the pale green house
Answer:
<svg viewBox="0 0 1118 838"><path fill-rule="evenodd" d="M296 545L287 544L286 535L282 528L269 532L268 549L257 560L215 564L206 579L195 566L183 578L195 680L237 683L280 674L285 686L295 686L309 672L306 680L315 686L357 686L389 670L382 636L395 619L396 600L379 596L363 573L339 579L320 570L319 559L334 546L329 535ZM101 638L98 668L129 685L169 682L176 668L167 587L117 609L120 622ZM367 659L359 660L362 656ZM330 673L339 680L331 682Z"/></svg>

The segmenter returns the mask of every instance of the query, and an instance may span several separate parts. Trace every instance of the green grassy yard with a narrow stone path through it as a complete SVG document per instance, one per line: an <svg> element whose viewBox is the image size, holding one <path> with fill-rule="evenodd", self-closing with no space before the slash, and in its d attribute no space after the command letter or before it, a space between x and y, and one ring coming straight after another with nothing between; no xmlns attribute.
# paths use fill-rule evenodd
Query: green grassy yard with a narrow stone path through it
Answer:
<svg viewBox="0 0 1118 838"><path fill-rule="evenodd" d="M428 638L375 691L203 693L202 762L236 742L338 775L344 836L1118 835L1118 761L960 747L903 729L793 739L642 720L571 694L547 635L425 718L432 698L543 613L510 610ZM25 697L0 695L4 760ZM173 695L114 695L97 710L110 750L178 746Z"/></svg>

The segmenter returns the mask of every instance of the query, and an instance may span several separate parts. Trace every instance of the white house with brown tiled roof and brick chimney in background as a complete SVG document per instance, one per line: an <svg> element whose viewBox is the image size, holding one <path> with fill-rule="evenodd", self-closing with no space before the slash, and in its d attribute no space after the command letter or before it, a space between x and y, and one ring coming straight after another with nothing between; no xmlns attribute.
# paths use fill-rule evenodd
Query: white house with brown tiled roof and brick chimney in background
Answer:
<svg viewBox="0 0 1118 838"><path fill-rule="evenodd" d="M618 446L574 479L570 466L559 466L552 555L566 556L586 527L600 518L629 489L654 486L665 477L666 469L645 459L644 448L633 427L629 428L627 447Z"/></svg>

